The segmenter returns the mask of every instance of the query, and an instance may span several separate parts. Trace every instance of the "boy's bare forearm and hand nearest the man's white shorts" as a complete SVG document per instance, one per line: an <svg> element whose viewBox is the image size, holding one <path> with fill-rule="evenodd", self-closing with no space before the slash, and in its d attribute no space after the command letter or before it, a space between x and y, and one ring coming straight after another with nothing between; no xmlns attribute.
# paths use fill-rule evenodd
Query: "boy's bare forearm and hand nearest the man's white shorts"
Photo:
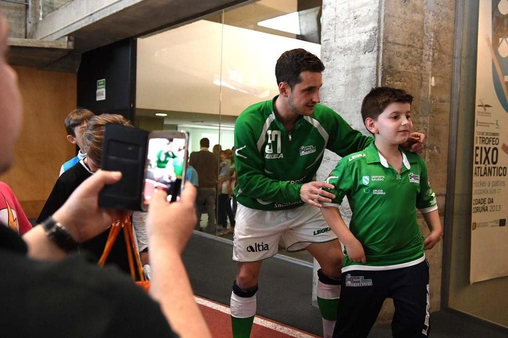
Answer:
<svg viewBox="0 0 508 338"><path fill-rule="evenodd" d="M353 261L365 264L367 259L362 243L347 228L339 209L332 206L323 206L321 213L339 241L346 247L347 256Z"/></svg>

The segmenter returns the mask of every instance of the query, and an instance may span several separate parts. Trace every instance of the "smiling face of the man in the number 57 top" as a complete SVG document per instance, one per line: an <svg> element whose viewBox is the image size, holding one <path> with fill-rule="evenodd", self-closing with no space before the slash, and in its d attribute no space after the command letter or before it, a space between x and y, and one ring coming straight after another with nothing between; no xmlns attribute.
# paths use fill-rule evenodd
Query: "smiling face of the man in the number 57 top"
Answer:
<svg viewBox="0 0 508 338"><path fill-rule="evenodd" d="M288 88L288 104L291 111L303 116L310 116L314 107L319 103L319 91L323 86L323 75L321 72L302 71L300 82Z"/></svg>

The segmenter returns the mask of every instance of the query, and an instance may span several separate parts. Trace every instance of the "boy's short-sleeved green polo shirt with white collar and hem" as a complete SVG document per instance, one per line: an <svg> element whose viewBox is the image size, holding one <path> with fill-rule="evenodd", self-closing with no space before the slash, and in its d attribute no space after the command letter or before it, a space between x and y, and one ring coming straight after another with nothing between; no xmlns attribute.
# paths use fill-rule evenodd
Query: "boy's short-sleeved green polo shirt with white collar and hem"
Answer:
<svg viewBox="0 0 508 338"><path fill-rule="evenodd" d="M374 143L364 151L339 161L327 178L335 189L335 206L347 196L353 216L350 231L362 243L366 264L346 254L342 272L348 270L390 270L418 264L425 259L423 236L416 221L422 213L437 209L424 160L401 149L400 174L379 154ZM415 208L416 207L416 208Z"/></svg>

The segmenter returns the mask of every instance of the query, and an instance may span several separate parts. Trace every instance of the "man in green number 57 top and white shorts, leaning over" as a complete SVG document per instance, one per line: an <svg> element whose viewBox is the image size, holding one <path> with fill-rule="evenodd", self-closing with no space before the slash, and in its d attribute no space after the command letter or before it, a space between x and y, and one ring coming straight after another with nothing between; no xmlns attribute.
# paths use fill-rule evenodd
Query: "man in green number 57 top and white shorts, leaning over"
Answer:
<svg viewBox="0 0 508 338"><path fill-rule="evenodd" d="M284 52L275 66L279 95L248 107L236 121L234 337L250 334L261 262L277 253L281 236L288 251L307 249L319 262L317 301L325 337L333 332L343 254L317 203L331 202L335 196L320 188L333 186L314 181L315 175L325 148L346 156L373 139L319 104L324 69L319 58L303 49ZM424 135L416 137L413 150L421 151L418 141Z"/></svg>

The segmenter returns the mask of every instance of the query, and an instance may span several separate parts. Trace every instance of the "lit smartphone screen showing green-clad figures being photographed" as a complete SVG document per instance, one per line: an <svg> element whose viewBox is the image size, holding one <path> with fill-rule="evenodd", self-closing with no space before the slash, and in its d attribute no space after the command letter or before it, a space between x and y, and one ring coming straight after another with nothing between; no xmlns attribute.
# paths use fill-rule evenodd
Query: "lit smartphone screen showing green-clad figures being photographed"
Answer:
<svg viewBox="0 0 508 338"><path fill-rule="evenodd" d="M160 137L167 136L179 137ZM156 132L148 139L142 209L146 210L155 190L164 190L168 202L178 201L185 177L187 135L184 132Z"/></svg>

